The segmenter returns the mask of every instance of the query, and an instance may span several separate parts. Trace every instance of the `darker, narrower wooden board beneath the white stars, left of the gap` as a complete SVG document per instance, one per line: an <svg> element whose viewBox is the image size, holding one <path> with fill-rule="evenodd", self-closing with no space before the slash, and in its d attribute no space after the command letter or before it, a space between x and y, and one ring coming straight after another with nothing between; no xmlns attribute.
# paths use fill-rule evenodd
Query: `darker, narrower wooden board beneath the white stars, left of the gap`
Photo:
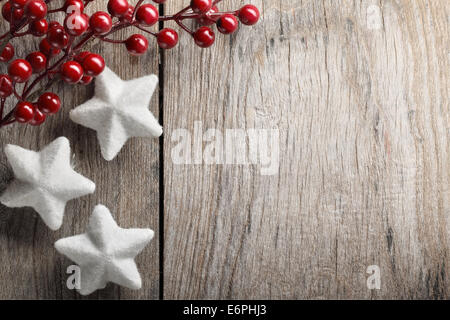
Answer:
<svg viewBox="0 0 450 320"><path fill-rule="evenodd" d="M89 12L106 7L107 0L96 1ZM91 6L90 5L90 6ZM4 26L2 26L2 29ZM122 34L124 37L124 34ZM24 43L30 50L31 41ZM148 55L131 58L121 46L95 44L111 68L124 79L158 74L158 51L152 46ZM19 54L25 48L18 46ZM94 51L93 50L93 51ZM5 66L0 65L1 71ZM132 291L108 285L90 299L158 299L159 298L159 142L133 139L119 156L106 162L100 155L95 132L77 126L68 112L93 94L93 87L59 86L62 112L41 128L13 125L0 130L0 148L17 144L38 150L55 138L69 138L76 170L97 185L95 194L68 203L62 228L50 231L32 209L0 207L0 299L80 299L66 287L66 268L73 264L53 247L56 240L85 231L95 205L108 206L118 224L124 228L145 227L155 231L155 239L136 259L143 278L143 289ZM151 110L158 116L158 92ZM12 177L3 152L0 153L2 189Z"/></svg>

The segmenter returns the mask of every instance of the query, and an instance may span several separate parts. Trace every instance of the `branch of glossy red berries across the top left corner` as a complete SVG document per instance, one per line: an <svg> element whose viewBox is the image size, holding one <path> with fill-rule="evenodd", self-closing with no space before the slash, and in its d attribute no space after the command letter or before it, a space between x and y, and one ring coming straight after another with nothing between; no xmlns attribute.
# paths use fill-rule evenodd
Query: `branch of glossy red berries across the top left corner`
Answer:
<svg viewBox="0 0 450 320"><path fill-rule="evenodd" d="M259 20L259 11L253 5L239 10L220 12L217 4L222 0L191 0L189 6L173 15L160 15L152 4L138 0L135 6L127 0L109 0L107 11L97 11L91 16L85 8L94 0L65 0L55 9L48 6L53 0L9 0L2 7L2 17L8 22L8 31L0 34L0 62L9 63L7 74L0 74L0 127L19 122L41 125L47 116L55 114L61 101L50 87L59 80L69 84L87 85L105 68L102 56L86 51L91 40L121 44L132 55L144 54L149 46L142 34L133 34L125 40L111 36L125 28L137 28L156 39L162 49L171 49L178 43L178 33L164 28L159 32L149 30L158 22L174 21L183 31L192 36L194 42L207 48L213 45L215 33L231 34L238 29L239 21L254 25ZM0 2L3 2L0 0ZM163 4L166 0L153 0ZM63 12L64 21L52 20L54 13ZM200 24L190 29L185 21ZM12 41L25 36L42 38L39 51L29 53L24 59L15 59ZM21 39L22 40L22 39ZM19 40L20 41L20 40ZM5 112L7 99L17 102Z"/></svg>

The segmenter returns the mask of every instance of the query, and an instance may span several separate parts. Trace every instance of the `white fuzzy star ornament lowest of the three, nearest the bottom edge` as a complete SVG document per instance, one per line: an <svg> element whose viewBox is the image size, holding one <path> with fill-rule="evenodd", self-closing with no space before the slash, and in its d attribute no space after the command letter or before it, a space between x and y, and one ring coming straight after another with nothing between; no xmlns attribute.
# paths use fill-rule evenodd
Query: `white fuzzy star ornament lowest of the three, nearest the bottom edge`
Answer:
<svg viewBox="0 0 450 320"><path fill-rule="evenodd" d="M138 290L142 280L134 258L153 235L150 229L120 228L108 208L98 205L89 220L87 232L60 239L55 248L80 267L80 294L88 295L103 289L108 282Z"/></svg>

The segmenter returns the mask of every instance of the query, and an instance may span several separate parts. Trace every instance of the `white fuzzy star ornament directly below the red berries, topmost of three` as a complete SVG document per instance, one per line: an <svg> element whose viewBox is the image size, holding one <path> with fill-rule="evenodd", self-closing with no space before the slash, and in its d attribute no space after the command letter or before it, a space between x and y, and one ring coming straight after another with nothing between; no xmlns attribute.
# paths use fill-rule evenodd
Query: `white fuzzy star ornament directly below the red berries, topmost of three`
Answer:
<svg viewBox="0 0 450 320"><path fill-rule="evenodd" d="M157 84L155 75L123 81L105 68L95 80L94 97L72 110L70 118L97 131L103 158L110 161L129 138L162 135L148 109Z"/></svg>

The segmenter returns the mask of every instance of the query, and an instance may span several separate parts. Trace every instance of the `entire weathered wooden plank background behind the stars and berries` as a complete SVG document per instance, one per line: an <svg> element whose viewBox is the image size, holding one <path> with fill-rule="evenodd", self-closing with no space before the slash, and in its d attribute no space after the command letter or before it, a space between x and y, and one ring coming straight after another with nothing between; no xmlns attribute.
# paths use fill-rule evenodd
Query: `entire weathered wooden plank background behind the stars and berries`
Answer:
<svg viewBox="0 0 450 320"><path fill-rule="evenodd" d="M251 2L261 23L218 35L209 50L186 34L161 59L154 45L140 59L95 46L125 79L162 76L150 106L160 141L134 139L103 161L95 134L67 116L92 87L61 86L65 110L42 128L0 131L2 147L68 137L77 169L97 184L70 202L58 232L30 209L0 208L0 298L80 299L53 243L84 232L98 203L157 236L137 259L141 291L109 285L90 299L449 298L449 2ZM196 121L204 131L278 129L277 173L175 164L173 133L193 134ZM0 164L6 186L3 153ZM370 265L380 290L366 286Z"/></svg>

